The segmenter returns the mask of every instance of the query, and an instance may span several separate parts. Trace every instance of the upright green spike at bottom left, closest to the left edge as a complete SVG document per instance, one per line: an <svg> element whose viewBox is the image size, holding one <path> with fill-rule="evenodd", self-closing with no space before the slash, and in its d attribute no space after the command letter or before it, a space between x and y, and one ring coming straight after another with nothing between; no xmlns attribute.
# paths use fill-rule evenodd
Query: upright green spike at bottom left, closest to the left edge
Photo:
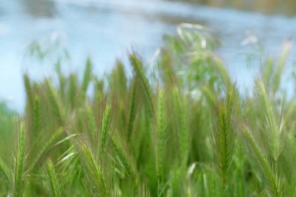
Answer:
<svg viewBox="0 0 296 197"><path fill-rule="evenodd" d="M18 132L17 153L14 171L14 197L22 197L26 181L26 130L22 122Z"/></svg>

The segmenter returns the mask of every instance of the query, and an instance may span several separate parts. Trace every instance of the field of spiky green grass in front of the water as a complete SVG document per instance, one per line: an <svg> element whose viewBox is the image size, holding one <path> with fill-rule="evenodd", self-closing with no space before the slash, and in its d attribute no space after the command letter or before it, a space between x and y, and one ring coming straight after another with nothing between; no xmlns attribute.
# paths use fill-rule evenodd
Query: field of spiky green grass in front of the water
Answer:
<svg viewBox="0 0 296 197"><path fill-rule="evenodd" d="M295 196L288 52L263 58L242 96L207 33L180 29L165 41L153 66L130 52L102 78L90 59L82 80L25 73L25 113L0 105L0 196Z"/></svg>

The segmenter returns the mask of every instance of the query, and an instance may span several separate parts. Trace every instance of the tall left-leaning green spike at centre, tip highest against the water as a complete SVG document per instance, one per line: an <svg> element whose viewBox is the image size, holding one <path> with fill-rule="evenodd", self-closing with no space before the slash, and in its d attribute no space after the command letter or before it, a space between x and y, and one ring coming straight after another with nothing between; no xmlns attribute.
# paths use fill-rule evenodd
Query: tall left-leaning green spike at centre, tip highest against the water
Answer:
<svg viewBox="0 0 296 197"><path fill-rule="evenodd" d="M145 75L143 62L140 58L138 58L135 54L130 54L129 56L131 65L134 68L136 76L138 77L141 87L143 89L143 94L145 97L145 103L148 107L150 117L152 118L154 115L154 108L153 108L153 100L152 100L152 90L148 81L148 78Z"/></svg>

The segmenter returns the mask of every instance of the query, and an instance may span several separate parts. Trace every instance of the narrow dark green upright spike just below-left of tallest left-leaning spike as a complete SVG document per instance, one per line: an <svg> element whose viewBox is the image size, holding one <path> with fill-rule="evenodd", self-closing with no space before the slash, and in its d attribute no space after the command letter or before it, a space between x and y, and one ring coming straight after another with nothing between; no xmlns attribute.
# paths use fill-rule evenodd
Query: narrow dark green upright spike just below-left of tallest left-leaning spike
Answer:
<svg viewBox="0 0 296 197"><path fill-rule="evenodd" d="M133 78L132 85L130 88L130 110L129 110L129 119L128 119L128 126L127 126L127 139L130 140L131 134L134 127L134 121L136 118L136 111L137 111L137 95L138 95L138 84L137 79Z"/></svg>

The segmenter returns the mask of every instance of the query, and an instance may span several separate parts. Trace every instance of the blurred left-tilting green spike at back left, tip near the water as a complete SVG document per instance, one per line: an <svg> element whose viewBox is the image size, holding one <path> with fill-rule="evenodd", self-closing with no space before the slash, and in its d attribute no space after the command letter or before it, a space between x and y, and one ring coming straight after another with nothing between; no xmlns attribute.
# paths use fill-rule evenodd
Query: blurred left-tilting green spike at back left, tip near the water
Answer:
<svg viewBox="0 0 296 197"><path fill-rule="evenodd" d="M48 88L48 91L47 91L48 99L50 101L50 104L52 105L52 110L54 112L54 115L56 116L59 125L63 126L64 116L62 113L62 107L60 106L60 99L58 97L58 94L56 90L51 86L49 79L46 79L46 86Z"/></svg>

